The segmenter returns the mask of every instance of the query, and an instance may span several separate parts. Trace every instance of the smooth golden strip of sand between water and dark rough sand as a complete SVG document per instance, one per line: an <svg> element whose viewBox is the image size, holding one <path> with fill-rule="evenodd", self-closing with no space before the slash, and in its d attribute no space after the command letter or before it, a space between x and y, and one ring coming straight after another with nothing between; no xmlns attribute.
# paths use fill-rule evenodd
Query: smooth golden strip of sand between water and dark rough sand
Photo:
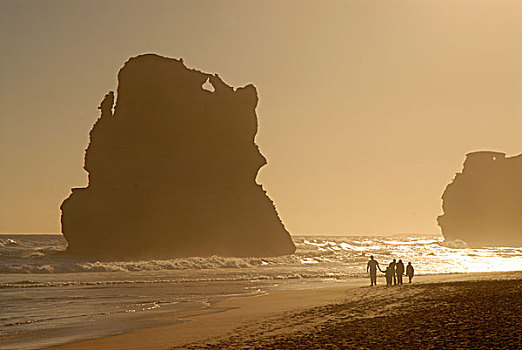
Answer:
<svg viewBox="0 0 522 350"><path fill-rule="evenodd" d="M379 280L383 282L382 278ZM274 290L262 295L225 299L212 305L204 313L181 319L172 315L173 322L176 323L167 326L136 329L117 335L57 345L48 349L196 349L204 346L213 348L212 344L219 344L245 331L248 331L248 334L244 334L245 337L252 337L255 334L252 329L259 327L265 329L276 325L277 330L270 332L275 332L276 336L282 336L302 331L301 328L324 323L325 315L318 315L303 324L293 324L290 315L295 316L306 310L359 301L368 305L370 302L366 299L369 297L382 298L394 305L399 302L398 294L402 293L404 296L413 298L424 287L434 288L433 286L456 282L509 280L522 280L522 271L421 275L415 276L411 285L406 283L403 286L392 287L386 287L383 283L377 287L370 287L369 279L365 278L341 282L342 285L336 286ZM270 324L263 326L260 323L262 320L265 322L270 320ZM251 327L253 328L250 329ZM266 336L265 333L262 336ZM258 336L261 335L258 334ZM222 347L226 348L227 345L222 345Z"/></svg>

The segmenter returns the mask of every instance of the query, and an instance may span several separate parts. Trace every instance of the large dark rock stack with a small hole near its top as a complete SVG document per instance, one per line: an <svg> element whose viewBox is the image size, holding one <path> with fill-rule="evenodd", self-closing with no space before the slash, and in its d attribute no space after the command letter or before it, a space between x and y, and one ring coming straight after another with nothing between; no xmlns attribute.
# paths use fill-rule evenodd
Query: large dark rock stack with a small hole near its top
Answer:
<svg viewBox="0 0 522 350"><path fill-rule="evenodd" d="M266 160L253 85L142 55L90 132L86 188L61 206L67 252L93 257L275 256L295 246L255 182ZM208 89L206 88L208 86Z"/></svg>

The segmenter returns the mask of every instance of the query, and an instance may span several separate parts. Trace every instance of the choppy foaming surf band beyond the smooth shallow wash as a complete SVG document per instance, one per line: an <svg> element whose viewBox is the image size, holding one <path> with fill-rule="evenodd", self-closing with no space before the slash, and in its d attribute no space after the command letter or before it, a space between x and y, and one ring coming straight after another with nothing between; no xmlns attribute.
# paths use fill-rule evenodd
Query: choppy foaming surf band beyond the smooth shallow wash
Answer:
<svg viewBox="0 0 522 350"><path fill-rule="evenodd" d="M445 242L440 236L294 237L295 254L270 258L189 257L165 260L89 261L63 254L61 235L0 236L0 273L63 274L76 272L226 271L271 268L308 275L362 274L369 255L378 261L412 261L424 273L506 271L522 269L522 248L471 249L465 242ZM419 266L421 267L421 266ZM283 274L290 276L290 273ZM275 278L272 274L269 278ZM287 277L285 277L287 278Z"/></svg>

